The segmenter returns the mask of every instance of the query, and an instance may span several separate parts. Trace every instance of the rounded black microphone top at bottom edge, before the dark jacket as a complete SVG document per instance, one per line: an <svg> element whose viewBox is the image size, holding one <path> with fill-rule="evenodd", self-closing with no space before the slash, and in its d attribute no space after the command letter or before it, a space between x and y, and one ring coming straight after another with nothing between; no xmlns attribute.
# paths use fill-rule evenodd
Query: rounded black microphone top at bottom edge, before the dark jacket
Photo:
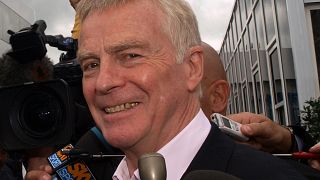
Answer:
<svg viewBox="0 0 320 180"><path fill-rule="evenodd" d="M183 180L241 180L231 174L216 170L195 170L186 175Z"/></svg>

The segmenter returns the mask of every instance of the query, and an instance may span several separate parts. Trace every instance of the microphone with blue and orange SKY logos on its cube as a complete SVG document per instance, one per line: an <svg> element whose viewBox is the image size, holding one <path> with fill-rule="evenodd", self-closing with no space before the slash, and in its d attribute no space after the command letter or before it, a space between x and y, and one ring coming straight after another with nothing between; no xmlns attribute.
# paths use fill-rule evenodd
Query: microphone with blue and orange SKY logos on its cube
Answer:
<svg viewBox="0 0 320 180"><path fill-rule="evenodd" d="M100 165L106 163L110 167L109 174L112 174L124 155L108 144L99 132L97 128L92 128L79 139L75 147L69 144L49 156L49 164L55 172L53 177L94 179L94 174L101 174ZM103 171L106 170L103 168Z"/></svg>

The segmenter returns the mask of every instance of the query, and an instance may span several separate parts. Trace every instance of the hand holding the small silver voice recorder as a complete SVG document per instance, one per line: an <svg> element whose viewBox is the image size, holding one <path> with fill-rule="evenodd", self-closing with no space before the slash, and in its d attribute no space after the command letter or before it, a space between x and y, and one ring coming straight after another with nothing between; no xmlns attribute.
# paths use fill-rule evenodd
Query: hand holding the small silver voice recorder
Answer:
<svg viewBox="0 0 320 180"><path fill-rule="evenodd" d="M288 153L291 149L291 132L264 115L239 113L228 116L243 126L241 132L250 138L245 142L258 150L270 153Z"/></svg>

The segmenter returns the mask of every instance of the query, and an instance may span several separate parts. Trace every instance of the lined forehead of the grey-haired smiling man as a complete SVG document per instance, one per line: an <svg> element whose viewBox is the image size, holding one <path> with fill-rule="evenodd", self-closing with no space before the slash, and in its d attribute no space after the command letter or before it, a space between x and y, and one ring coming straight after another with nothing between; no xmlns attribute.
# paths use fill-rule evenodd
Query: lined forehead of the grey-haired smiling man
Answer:
<svg viewBox="0 0 320 180"><path fill-rule="evenodd" d="M159 49L160 41L168 42L168 48L174 49L163 31L162 17L162 11L150 3L130 3L93 12L81 24L78 55L88 54L88 50L98 51L97 47L101 51L101 45L107 53L132 47L148 49L150 44Z"/></svg>

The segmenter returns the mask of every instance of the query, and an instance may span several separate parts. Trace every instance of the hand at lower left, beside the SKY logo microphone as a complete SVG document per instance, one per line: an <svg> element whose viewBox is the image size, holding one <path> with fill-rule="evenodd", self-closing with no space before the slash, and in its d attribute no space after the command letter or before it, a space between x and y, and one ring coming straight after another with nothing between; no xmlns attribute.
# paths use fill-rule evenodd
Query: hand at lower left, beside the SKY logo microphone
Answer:
<svg viewBox="0 0 320 180"><path fill-rule="evenodd" d="M28 167L26 180L50 179L53 170L49 165L47 157L54 152L51 147L33 149L27 152Z"/></svg>

